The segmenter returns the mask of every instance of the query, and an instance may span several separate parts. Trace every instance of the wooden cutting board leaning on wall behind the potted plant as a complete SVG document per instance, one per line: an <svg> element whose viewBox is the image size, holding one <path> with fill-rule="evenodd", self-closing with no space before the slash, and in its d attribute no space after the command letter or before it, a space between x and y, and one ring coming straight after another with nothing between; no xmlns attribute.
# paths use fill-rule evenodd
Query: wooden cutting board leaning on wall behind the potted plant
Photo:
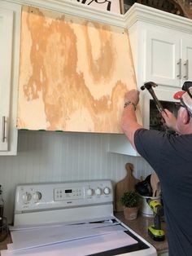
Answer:
<svg viewBox="0 0 192 256"><path fill-rule="evenodd" d="M127 163L125 165L125 169L127 170L127 175L124 179L121 179L120 182L116 183L115 188L115 198L116 198L116 211L123 211L123 206L120 203L120 198L123 196L124 192L127 191L135 191L135 184L140 180L135 179L133 177L133 165L131 163Z"/></svg>

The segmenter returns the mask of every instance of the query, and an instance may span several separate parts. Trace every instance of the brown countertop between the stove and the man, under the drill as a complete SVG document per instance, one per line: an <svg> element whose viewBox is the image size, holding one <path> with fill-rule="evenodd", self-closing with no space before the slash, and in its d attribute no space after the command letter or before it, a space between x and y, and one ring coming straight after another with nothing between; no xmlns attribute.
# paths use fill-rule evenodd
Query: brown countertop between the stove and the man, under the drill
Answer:
<svg viewBox="0 0 192 256"><path fill-rule="evenodd" d="M138 235L142 236L146 241L150 242L151 245L153 245L158 252L168 250L168 241L166 238L166 224L164 222L161 223L162 224L161 228L165 232L165 240L154 241L148 235L148 227L154 224L154 218L145 217L145 216L142 216L141 214L138 214L136 219L126 220L124 218L123 212L115 213L115 216L116 218L119 218L120 221L122 221L127 226L129 226L131 229L133 229L133 231L136 232Z"/></svg>

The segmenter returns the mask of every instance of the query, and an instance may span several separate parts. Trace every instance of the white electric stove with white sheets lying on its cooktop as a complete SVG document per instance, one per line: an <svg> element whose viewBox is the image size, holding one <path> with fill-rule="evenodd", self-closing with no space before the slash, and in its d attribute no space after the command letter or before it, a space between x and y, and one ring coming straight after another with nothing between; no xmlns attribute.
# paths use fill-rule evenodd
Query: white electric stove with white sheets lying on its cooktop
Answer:
<svg viewBox="0 0 192 256"><path fill-rule="evenodd" d="M113 215L110 180L18 186L11 238L2 256L157 255Z"/></svg>

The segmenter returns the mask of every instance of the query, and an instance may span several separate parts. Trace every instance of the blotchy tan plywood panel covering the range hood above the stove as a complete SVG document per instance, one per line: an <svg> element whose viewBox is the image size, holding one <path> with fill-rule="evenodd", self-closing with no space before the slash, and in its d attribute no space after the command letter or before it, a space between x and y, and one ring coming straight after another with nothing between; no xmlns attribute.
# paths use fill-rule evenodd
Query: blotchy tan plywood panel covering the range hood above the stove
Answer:
<svg viewBox="0 0 192 256"><path fill-rule="evenodd" d="M136 88L127 31L24 7L18 129L120 133Z"/></svg>

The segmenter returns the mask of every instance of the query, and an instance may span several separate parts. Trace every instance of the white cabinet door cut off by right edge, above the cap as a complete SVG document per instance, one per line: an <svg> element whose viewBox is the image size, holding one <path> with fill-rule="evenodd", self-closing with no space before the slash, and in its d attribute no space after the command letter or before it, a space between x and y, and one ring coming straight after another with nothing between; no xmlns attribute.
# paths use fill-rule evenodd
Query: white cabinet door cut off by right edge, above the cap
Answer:
<svg viewBox="0 0 192 256"><path fill-rule="evenodd" d="M181 41L182 77L181 83L185 80L192 81L192 39Z"/></svg>

